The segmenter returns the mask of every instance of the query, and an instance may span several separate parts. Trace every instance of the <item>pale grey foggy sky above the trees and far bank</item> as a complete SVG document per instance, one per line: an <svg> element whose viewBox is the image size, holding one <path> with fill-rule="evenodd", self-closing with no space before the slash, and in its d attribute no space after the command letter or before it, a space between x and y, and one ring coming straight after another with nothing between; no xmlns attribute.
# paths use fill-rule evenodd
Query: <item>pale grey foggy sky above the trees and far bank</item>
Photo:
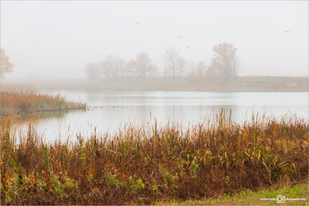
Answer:
<svg viewBox="0 0 309 206"><path fill-rule="evenodd" d="M209 64L222 42L239 50L241 75L306 76L308 2L1 1L0 44L15 64L6 79L85 78L88 63L142 51L163 70L169 47Z"/></svg>

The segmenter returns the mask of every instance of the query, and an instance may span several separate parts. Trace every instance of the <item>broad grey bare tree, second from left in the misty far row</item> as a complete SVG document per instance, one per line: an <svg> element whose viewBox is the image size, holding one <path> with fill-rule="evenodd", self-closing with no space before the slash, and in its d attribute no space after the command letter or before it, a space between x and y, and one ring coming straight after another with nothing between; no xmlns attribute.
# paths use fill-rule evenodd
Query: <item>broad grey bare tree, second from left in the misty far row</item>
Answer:
<svg viewBox="0 0 309 206"><path fill-rule="evenodd" d="M101 71L105 78L116 80L123 75L125 61L118 55L109 54L101 64Z"/></svg>

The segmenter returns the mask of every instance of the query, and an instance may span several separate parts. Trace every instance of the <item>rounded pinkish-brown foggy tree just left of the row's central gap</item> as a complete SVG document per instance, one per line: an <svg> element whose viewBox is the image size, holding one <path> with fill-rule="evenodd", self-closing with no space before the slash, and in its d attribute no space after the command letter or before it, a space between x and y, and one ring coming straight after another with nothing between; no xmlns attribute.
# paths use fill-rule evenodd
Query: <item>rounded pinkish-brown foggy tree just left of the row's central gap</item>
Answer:
<svg viewBox="0 0 309 206"><path fill-rule="evenodd" d="M136 56L135 69L137 76L142 76L145 79L146 76L150 76L157 69L157 66L151 63L148 54L141 52Z"/></svg>

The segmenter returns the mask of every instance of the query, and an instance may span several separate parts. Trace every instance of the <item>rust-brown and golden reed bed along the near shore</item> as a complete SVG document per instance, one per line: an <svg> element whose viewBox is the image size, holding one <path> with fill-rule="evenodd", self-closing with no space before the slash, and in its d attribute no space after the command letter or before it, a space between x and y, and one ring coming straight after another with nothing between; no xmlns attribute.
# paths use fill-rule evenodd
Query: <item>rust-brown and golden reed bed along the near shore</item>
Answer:
<svg viewBox="0 0 309 206"><path fill-rule="evenodd" d="M1 116L1 204L151 205L308 179L308 122L291 116L236 123L222 111L71 138L46 142L35 121L21 133Z"/></svg>

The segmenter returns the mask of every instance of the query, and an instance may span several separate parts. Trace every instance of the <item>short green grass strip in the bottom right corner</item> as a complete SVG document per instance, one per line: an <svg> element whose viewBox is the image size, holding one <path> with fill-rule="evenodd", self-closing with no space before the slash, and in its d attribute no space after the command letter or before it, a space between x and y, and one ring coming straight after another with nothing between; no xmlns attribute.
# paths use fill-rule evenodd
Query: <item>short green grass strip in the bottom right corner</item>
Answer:
<svg viewBox="0 0 309 206"><path fill-rule="evenodd" d="M276 200L265 200L265 198L276 198L278 195L305 200L286 200L285 203L277 203ZM247 190L231 195L225 193L218 196L218 198L201 201L174 201L168 205L308 205L308 182L278 190L273 188L265 191L259 190L258 192Z"/></svg>

